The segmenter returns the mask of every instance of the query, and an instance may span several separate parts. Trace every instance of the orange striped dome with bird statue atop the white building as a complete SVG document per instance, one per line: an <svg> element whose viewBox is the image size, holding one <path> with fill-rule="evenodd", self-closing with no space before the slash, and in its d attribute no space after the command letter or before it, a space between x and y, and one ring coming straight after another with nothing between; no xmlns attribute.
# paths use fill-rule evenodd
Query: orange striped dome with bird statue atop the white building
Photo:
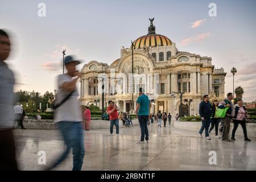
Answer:
<svg viewBox="0 0 256 182"><path fill-rule="evenodd" d="M155 34L155 26L153 24L154 18L149 19L150 26L148 27L148 34L141 36L133 42L134 49L141 49L143 47L156 46L171 46L172 42L166 36Z"/></svg>

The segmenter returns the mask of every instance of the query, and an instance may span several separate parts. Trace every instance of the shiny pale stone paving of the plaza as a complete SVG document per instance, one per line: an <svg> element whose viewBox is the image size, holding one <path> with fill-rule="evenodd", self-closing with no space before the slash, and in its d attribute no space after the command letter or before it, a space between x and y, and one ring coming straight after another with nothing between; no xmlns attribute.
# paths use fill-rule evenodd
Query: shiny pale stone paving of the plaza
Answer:
<svg viewBox="0 0 256 182"><path fill-rule="evenodd" d="M120 137L109 136L108 129L86 131L82 170L256 170L255 138L227 143L212 135L205 140L168 123L166 128L151 124L149 132L150 142L138 144L139 126L122 127ZM17 129L14 134L20 170L43 170L64 151L58 130ZM38 164L39 151L46 151L46 165ZM216 165L209 164L209 151L216 151ZM72 170L72 154L55 170Z"/></svg>

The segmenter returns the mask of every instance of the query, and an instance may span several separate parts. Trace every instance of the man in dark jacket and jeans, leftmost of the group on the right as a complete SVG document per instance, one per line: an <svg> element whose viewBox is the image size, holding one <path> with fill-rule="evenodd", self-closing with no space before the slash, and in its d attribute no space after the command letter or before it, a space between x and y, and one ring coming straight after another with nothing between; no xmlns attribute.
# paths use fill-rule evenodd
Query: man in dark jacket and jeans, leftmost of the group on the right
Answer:
<svg viewBox="0 0 256 182"><path fill-rule="evenodd" d="M199 131L199 135L201 138L203 138L202 134L205 129L205 138L210 140L209 126L210 126L210 116L212 114L212 105L210 105L208 95L204 95L203 101L199 105L199 114L202 119L202 126Z"/></svg>

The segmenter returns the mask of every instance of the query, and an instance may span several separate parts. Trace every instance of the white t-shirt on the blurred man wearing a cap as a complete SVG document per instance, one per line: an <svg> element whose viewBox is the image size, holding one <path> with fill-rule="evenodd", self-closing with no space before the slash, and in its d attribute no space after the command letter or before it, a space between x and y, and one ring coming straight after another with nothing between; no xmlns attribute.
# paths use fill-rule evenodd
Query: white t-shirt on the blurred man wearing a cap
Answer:
<svg viewBox="0 0 256 182"><path fill-rule="evenodd" d="M72 81L72 77L68 74L59 75L57 78L57 84L59 88L58 96L56 98L56 104L60 103L68 96L70 92L67 92L60 88L60 86L67 81ZM80 122L82 121L82 110L79 105L77 88L72 93L72 95L66 100L62 105L57 107L55 110L55 122L60 121L73 121Z"/></svg>

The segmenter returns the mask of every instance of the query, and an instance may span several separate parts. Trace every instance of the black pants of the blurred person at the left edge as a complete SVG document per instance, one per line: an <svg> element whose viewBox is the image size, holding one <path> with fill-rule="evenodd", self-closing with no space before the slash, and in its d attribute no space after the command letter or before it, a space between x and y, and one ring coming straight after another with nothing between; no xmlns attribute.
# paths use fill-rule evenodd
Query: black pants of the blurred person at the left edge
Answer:
<svg viewBox="0 0 256 182"><path fill-rule="evenodd" d="M12 130L0 130L0 171L18 170Z"/></svg>

